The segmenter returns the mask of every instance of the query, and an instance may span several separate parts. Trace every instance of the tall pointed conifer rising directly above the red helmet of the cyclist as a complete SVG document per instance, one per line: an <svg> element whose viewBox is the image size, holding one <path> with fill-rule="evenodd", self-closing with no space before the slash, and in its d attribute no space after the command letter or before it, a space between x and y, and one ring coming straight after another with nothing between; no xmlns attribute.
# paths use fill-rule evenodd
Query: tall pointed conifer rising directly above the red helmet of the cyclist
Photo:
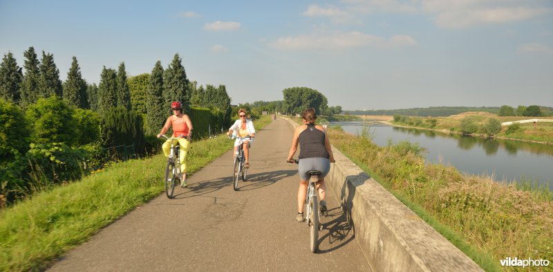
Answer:
<svg viewBox="0 0 553 272"><path fill-rule="evenodd" d="M186 77L185 67L182 66L182 60L178 53L173 57L173 62L169 64L163 74L163 98L165 104L171 101L182 102L182 107L189 108L190 97L188 92L188 79Z"/></svg>

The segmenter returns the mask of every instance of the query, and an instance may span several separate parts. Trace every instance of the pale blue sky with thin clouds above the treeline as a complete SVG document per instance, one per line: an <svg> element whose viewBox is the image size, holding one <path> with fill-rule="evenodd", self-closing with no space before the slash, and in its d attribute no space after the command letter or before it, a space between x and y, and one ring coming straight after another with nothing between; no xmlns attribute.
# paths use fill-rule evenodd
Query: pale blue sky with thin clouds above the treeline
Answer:
<svg viewBox="0 0 553 272"><path fill-rule="evenodd" d="M552 0L0 0L0 53L30 46L96 84L178 53L233 105L309 87L346 110L553 107Z"/></svg>

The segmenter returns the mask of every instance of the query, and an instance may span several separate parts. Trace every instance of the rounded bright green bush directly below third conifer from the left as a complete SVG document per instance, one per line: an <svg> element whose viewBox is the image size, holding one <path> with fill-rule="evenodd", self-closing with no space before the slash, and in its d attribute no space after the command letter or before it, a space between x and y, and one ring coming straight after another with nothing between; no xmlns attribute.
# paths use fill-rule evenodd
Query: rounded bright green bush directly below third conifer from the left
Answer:
<svg viewBox="0 0 553 272"><path fill-rule="evenodd" d="M33 124L32 142L76 145L79 136L73 113L74 109L56 96L39 99L26 111L27 119Z"/></svg>

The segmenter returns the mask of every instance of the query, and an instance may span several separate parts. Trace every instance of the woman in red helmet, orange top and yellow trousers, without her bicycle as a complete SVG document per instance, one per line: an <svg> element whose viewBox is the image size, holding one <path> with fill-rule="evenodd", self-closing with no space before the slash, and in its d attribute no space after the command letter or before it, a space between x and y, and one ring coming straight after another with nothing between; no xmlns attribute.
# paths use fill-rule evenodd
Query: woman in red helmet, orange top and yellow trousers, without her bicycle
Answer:
<svg viewBox="0 0 553 272"><path fill-rule="evenodd" d="M165 121L165 125L162 127L160 134L158 134L158 138L161 138L165 132L167 132L167 129L169 127L173 128L173 137L178 136L186 136L186 138L179 138L178 139L178 145L180 149L180 187L186 187L186 154L188 152L188 146L190 145L190 138L192 135L192 122L190 121L190 118L182 112L182 104L180 102L172 102L171 103L171 109L173 110L173 115L169 116L167 118L167 121ZM169 156L169 153L171 152L171 140L165 141L162 145L163 154L165 156Z"/></svg>

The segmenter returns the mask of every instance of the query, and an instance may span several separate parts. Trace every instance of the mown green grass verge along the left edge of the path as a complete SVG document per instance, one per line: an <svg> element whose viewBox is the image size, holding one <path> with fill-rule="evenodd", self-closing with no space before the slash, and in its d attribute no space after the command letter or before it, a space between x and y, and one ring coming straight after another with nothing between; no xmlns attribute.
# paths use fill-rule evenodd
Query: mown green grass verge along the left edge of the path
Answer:
<svg viewBox="0 0 553 272"><path fill-rule="evenodd" d="M261 129L271 120L256 120ZM190 174L232 148L225 136L194 141L187 155ZM164 190L167 160L117 163L81 181L39 192L0 211L0 271L41 271L71 248Z"/></svg>

